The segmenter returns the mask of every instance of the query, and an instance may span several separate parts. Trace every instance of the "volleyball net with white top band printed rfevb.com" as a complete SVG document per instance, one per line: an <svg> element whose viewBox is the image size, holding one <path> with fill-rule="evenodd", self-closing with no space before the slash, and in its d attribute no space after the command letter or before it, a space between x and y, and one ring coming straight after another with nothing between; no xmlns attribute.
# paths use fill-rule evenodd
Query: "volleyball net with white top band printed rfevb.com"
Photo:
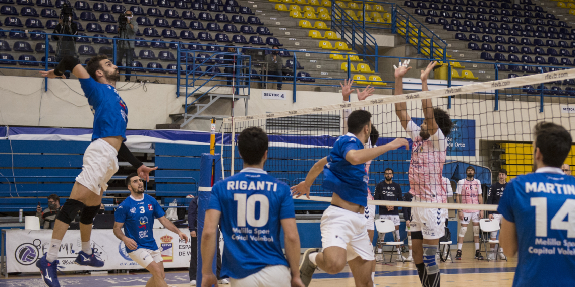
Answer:
<svg viewBox="0 0 575 287"><path fill-rule="evenodd" d="M566 96L551 97L545 83L563 86L563 80L575 79L573 69L539 73L512 79L473 83L465 86L439 88L425 92L382 96L357 102L329 104L308 107L300 110L279 111L244 117L224 119L225 137L222 146L224 174L230 176L241 169L241 158L235 152L235 134L251 126L257 126L267 132L270 138L268 160L264 165L270 175L293 186L305 179L309 169L321 158L327 156L333 143L343 134L344 110L365 109L371 113L371 122L379 131L377 145L383 145L395 138L408 138L407 131L401 126L396 115L395 103L405 102L407 112L415 125L423 122L421 100L431 99L434 108L440 108L449 115L455 124L448 134L447 156L443 167L443 176L457 190L458 181L466 178L465 169L473 166L474 179L481 181L483 202L480 204L451 203L451 195L441 195L435 202L413 201L370 201L370 204L398 207L433 207L450 210L496 211L497 205L486 205L487 191L497 181L497 171L505 168L509 171L508 180L520 174L531 172L532 158L529 153L521 154L526 158L521 162L505 160L505 154L515 154L513 146L530 144L532 128L541 121L559 123L572 130L575 117L563 112L562 105L575 100ZM564 87L564 86L563 86ZM565 89L565 88L564 88ZM545 95L545 97L543 96ZM497 99L499 97L499 99ZM497 110L496 110L497 107ZM439 124L438 124L439 125ZM510 148L506 148L509 146ZM412 146L413 148L413 146ZM416 147L417 148L417 147ZM514 158L516 158L515 156ZM509 158L509 157L507 157ZM569 158L568 158L569 160ZM393 181L400 184L402 193L410 191L409 168L412 162L412 150L392 150L375 158L368 172L369 187L373 192L377 185L385 180L384 170L392 168ZM421 176L425 176L421 174ZM331 201L332 193L321 188L323 175L316 179L310 200ZM466 192L462 192L462 197ZM307 200L304 197L299 199ZM433 201L432 199L431 201ZM462 200L464 203L471 202Z"/></svg>

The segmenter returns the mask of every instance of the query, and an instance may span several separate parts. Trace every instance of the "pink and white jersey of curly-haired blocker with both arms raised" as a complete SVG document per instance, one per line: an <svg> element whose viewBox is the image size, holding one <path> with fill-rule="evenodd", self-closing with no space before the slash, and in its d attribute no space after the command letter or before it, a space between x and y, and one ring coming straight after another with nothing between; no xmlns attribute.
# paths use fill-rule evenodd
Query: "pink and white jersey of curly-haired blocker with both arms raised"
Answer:
<svg viewBox="0 0 575 287"><path fill-rule="evenodd" d="M447 203L447 190L442 180L447 155L447 139L443 132L438 129L424 141L419 135L421 127L413 121L407 123L405 130L413 141L408 172L413 201Z"/></svg>

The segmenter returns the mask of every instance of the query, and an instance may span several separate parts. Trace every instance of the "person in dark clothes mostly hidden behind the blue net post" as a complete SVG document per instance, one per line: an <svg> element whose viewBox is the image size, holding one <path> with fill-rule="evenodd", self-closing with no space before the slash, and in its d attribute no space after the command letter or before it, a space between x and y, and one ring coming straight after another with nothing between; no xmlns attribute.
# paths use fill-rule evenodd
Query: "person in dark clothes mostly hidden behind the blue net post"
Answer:
<svg viewBox="0 0 575 287"><path fill-rule="evenodd" d="M198 196L190 201L187 207L187 228L190 230L190 286L196 286L198 272ZM217 250L220 250L220 232L218 230ZM217 278L220 284L229 284L226 279L220 278L221 253L217 252Z"/></svg>

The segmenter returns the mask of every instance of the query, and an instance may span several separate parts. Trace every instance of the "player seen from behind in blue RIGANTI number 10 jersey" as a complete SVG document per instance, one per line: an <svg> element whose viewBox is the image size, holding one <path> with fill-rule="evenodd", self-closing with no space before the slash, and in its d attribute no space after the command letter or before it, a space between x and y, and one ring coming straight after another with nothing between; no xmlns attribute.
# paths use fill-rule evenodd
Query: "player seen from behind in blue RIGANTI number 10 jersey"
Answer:
<svg viewBox="0 0 575 287"><path fill-rule="evenodd" d="M243 169L212 188L202 232L202 287L217 285L212 261L218 223L225 242L221 276L229 276L232 286L304 286L297 266L300 236L292 195L285 183L263 170L267 148L268 138L262 129L243 130L237 137Z"/></svg>

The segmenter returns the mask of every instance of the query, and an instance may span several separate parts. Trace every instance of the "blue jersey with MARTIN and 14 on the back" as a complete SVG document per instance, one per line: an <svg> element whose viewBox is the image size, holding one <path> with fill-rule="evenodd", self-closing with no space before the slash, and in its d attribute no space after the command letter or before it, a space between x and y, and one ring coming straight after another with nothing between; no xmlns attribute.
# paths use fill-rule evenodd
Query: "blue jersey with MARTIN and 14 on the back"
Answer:
<svg viewBox="0 0 575 287"><path fill-rule="evenodd" d="M575 286L574 177L550 167L518 176L497 211L517 229L514 287Z"/></svg>

